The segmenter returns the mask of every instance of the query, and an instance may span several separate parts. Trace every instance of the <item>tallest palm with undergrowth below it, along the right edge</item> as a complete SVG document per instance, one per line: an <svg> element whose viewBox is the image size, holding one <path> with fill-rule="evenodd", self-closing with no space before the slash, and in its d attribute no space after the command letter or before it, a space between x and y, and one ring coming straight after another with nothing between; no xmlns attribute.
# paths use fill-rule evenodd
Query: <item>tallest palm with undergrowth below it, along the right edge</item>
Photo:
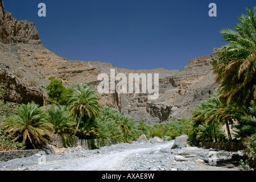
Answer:
<svg viewBox="0 0 256 182"><path fill-rule="evenodd" d="M256 151L256 6L253 9L246 8L246 11L247 15L238 17L239 23L234 30L221 30L223 40L229 44L214 49L217 57L212 65L217 75L216 81L220 82L217 98L221 105L215 110L223 115L220 121L228 120L230 124L233 124L232 121L238 122L237 138L244 141L250 161L255 159ZM243 166L246 165L243 162Z"/></svg>

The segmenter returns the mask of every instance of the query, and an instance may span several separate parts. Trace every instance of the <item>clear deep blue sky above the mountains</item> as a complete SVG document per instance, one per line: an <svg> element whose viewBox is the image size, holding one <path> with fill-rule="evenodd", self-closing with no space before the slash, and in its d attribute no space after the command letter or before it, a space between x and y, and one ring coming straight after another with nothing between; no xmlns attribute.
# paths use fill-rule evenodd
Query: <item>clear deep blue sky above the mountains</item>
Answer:
<svg viewBox="0 0 256 182"><path fill-rule="evenodd" d="M46 4L47 17L38 16ZM208 15L216 3L217 17ZM42 44L70 60L129 69L183 69L211 54L255 0L3 0L14 18L34 22Z"/></svg>

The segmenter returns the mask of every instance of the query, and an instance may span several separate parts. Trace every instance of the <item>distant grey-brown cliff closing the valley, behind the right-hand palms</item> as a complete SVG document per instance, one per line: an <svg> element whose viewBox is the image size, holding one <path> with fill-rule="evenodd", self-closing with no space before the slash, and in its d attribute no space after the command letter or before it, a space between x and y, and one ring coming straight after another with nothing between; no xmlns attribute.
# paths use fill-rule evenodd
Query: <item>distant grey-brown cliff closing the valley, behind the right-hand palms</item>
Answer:
<svg viewBox="0 0 256 182"><path fill-rule="evenodd" d="M210 61L213 55L192 59L182 71L165 69L147 70L144 73L159 73L159 97L148 100L147 94L112 94L110 100L116 109L137 121L146 121L149 125L170 122L172 119L190 117L197 104L214 93L217 84L214 81ZM93 64L93 63L90 63ZM97 63L101 68L100 63ZM110 69L104 67L106 69ZM117 73L120 68L116 68ZM124 73L134 73L123 69ZM117 74L116 73L116 74ZM143 73L143 71L138 71Z"/></svg>

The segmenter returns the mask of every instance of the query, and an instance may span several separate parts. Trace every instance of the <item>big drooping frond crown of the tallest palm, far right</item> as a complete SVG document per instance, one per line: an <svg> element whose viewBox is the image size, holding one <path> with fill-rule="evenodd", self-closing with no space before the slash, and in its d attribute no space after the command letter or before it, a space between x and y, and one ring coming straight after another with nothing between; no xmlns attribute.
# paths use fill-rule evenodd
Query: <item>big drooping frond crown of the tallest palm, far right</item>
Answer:
<svg viewBox="0 0 256 182"><path fill-rule="evenodd" d="M247 105L256 98L256 6L246 8L247 15L238 17L234 30L221 30L227 46L214 49L216 81L220 81L220 99L226 104Z"/></svg>

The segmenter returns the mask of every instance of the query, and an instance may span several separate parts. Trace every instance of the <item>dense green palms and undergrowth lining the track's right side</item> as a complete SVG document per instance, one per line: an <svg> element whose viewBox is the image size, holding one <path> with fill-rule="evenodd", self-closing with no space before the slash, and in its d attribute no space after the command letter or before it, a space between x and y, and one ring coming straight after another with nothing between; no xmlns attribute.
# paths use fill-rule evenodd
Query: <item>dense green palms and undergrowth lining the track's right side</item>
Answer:
<svg viewBox="0 0 256 182"><path fill-rule="evenodd" d="M228 46L213 50L213 72L220 82L217 93L201 102L192 112L192 130L188 133L191 143L243 141L248 160L241 168L248 166L256 154L256 6L246 9L247 15L238 17L240 23L234 30L221 30ZM226 126L228 138L221 130ZM236 127L236 138L232 138L230 126Z"/></svg>

